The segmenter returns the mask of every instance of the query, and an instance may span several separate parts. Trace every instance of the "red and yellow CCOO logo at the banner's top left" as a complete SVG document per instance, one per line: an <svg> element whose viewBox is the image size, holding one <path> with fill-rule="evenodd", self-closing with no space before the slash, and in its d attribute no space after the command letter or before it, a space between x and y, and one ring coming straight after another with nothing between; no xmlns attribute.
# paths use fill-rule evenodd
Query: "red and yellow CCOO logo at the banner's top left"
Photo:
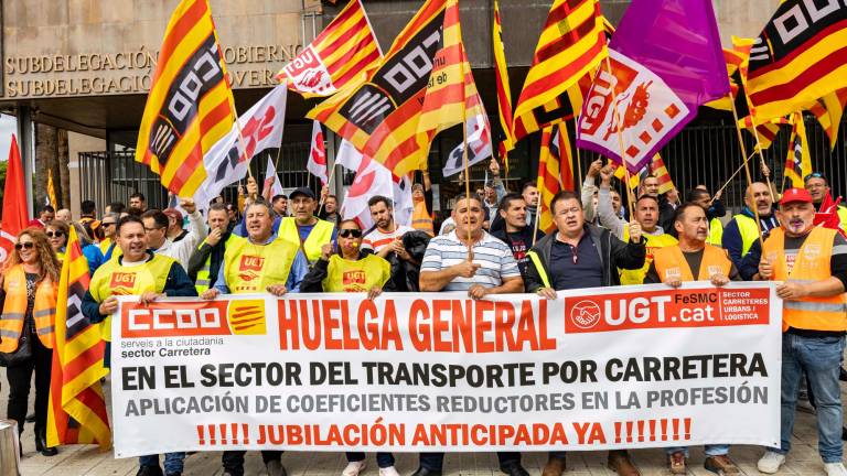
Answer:
<svg viewBox="0 0 847 476"><path fill-rule="evenodd" d="M264 300L124 303L125 338L267 334Z"/></svg>

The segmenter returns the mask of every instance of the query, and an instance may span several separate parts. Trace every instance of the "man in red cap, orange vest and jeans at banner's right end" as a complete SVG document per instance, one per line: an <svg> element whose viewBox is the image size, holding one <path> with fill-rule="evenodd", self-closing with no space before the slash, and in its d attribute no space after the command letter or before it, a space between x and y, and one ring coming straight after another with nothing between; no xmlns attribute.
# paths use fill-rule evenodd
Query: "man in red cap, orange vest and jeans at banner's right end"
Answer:
<svg viewBox="0 0 847 476"><path fill-rule="evenodd" d="M847 475L841 463L841 396L838 374L847 333L847 240L815 226L815 205L803 188L780 201L780 228L762 247L761 280L781 281L782 423L780 447L768 448L759 470L776 473L791 448L794 409L805 372L817 403L818 453L828 476Z"/></svg>

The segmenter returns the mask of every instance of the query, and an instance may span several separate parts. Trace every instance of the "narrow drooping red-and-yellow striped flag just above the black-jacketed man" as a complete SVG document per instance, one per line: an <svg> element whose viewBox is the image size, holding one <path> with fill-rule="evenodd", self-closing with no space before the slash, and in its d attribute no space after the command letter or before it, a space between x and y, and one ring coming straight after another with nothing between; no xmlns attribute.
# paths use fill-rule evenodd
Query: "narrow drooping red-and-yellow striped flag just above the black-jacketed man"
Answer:
<svg viewBox="0 0 847 476"><path fill-rule="evenodd" d="M540 194L540 218L538 228L551 232L556 228L553 221L550 203L561 191L573 191L573 160L570 138L562 130L565 122L549 126L542 131L542 151L538 162L538 193Z"/></svg>

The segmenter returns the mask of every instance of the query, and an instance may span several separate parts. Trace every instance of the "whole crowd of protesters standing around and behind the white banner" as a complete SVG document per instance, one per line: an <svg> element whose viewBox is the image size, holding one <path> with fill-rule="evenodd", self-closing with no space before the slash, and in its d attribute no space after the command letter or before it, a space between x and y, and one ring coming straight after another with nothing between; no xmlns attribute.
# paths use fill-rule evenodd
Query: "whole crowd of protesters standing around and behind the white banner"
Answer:
<svg viewBox="0 0 847 476"><path fill-rule="evenodd" d="M549 213L555 227L545 234L538 229L535 184L510 192L496 161L489 172L490 183L479 193L455 196L450 216L441 224L433 220L427 174L412 188L410 224L396 223L390 198L374 196L368 202L374 224L369 229L342 219L336 197L326 190L315 194L301 187L266 199L258 196L253 181L239 190L237 203L216 199L205 217L191 199L182 199L179 208L148 209L138 193L128 207L112 203L101 214L93 202L83 202L76 220L67 209L43 207L17 237L0 275L0 357L8 366L8 416L23 432L34 374L36 450L56 454L56 448L46 446L44 432L53 320L62 305L56 303L58 272L73 227L92 271L82 312L95 323L117 309L110 285L115 273L144 273L146 279L135 280L129 290L144 303L163 296L211 300L256 292L277 296L361 292L375 299L383 292L452 291L474 300L527 292L555 300L558 291L587 288L780 281L776 294L784 300L782 439L780 447L765 448L758 468L775 473L785 462L795 407L803 393L817 414L818 451L827 474L847 475L841 464L839 389L847 331L847 209L835 210L840 227L816 225L817 207L829 194L822 174L811 174L805 188L787 190L779 201L772 187L752 183L743 208L727 220L719 193L711 196L697 186L680 203L679 191L660 194L654 176L642 180L632 206L626 207L613 169L597 161L580 193L562 191L553 198ZM261 260L258 279L239 272L245 252L272 257ZM104 339L108 342L109 336ZM687 474L688 450L666 452L669 472ZM706 469L740 473L729 445L707 445L705 452ZM261 456L269 475L286 474L281 451L262 451ZM346 456L343 476L364 470L364 453ZM497 458L503 473L528 474L521 453L501 452ZM138 475L180 475L184 459L184 453L167 454L162 469L157 455L143 456ZM244 461L244 451L224 452L223 474L243 475ZM390 453L378 453L376 462L380 476L398 475ZM625 450L610 451L608 463L619 475L640 474ZM443 465L443 453L421 454L412 476L440 476ZM565 452L551 452L543 476L560 476L566 467Z"/></svg>

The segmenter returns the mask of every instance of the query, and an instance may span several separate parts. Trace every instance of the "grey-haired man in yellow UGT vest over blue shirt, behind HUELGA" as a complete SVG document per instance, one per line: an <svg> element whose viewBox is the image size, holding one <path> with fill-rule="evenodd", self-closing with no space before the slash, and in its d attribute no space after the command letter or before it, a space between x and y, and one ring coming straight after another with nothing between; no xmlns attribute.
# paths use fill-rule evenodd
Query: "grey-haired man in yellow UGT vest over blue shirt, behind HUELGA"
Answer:
<svg viewBox="0 0 847 476"><path fill-rule="evenodd" d="M279 239L274 231L276 214L264 199L247 205L244 224L247 237L233 235L225 245L224 262L214 288L200 296L212 300L221 294L269 292L276 296L299 292L309 272L305 256L298 245ZM226 451L222 456L224 476L244 475L245 451ZM282 452L262 450L261 459L269 476L283 476Z"/></svg>

